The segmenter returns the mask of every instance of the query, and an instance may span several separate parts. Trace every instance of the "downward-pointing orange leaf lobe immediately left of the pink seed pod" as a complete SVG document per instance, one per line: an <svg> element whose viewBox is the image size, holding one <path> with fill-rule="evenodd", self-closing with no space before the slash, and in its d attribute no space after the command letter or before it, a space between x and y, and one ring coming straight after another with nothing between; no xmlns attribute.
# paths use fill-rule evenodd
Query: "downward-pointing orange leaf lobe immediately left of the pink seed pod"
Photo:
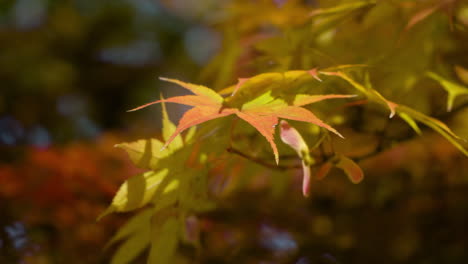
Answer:
<svg viewBox="0 0 468 264"><path fill-rule="evenodd" d="M275 155L276 164L279 163L278 149L274 141L275 126L278 124L278 117L274 115L259 115L251 112L236 112L236 115L245 120L247 123L251 124L255 129L257 129L260 134L262 134L267 141L270 143L271 148L273 149L273 154Z"/></svg>

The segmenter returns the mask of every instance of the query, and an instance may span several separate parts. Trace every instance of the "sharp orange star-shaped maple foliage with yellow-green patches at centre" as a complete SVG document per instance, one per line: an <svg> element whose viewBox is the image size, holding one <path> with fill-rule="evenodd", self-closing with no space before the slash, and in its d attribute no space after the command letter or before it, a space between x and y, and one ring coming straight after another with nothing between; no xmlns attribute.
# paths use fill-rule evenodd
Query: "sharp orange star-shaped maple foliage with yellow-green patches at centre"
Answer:
<svg viewBox="0 0 468 264"><path fill-rule="evenodd" d="M221 95L202 85L182 82L175 79L160 78L163 81L172 82L191 91L193 95L175 96L167 99L157 100L129 111L136 111L147 106L168 102L193 106L192 109L184 113L179 120L179 124L164 146L167 146L178 134L189 127L201 124L203 122L235 114L252 125L266 140L270 143L275 155L276 163L279 162L278 149L274 141L275 127L279 118L304 121L323 127L338 136L342 137L334 128L324 123L309 110L301 106L319 102L332 98L349 98L354 95L297 95L292 105L288 105L281 99L271 97L270 93L255 98L244 103L239 108L226 107L223 104L224 99Z"/></svg>

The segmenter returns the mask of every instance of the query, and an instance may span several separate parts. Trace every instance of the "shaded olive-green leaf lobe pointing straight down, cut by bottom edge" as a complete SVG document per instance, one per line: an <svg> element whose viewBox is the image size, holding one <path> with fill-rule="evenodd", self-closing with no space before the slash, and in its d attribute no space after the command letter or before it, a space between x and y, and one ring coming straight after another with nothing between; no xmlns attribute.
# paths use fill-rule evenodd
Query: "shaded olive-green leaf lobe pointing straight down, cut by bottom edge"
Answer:
<svg viewBox="0 0 468 264"><path fill-rule="evenodd" d="M151 229L148 264L172 263L171 259L179 242L180 222L174 216L158 219L158 215L155 215Z"/></svg>

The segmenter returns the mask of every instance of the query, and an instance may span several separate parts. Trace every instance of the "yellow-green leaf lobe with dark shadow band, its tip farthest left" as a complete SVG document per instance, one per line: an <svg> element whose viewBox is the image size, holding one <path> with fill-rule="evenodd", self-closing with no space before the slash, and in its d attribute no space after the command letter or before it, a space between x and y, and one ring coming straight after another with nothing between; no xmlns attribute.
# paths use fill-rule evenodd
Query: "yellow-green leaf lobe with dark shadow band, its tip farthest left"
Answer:
<svg viewBox="0 0 468 264"><path fill-rule="evenodd" d="M98 217L98 220L112 212L126 212L141 208L148 204L157 192L161 192L158 200L164 199L165 195L177 189L179 185L177 178L166 178L168 173L168 169L149 171L126 180L120 186L109 208Z"/></svg>

